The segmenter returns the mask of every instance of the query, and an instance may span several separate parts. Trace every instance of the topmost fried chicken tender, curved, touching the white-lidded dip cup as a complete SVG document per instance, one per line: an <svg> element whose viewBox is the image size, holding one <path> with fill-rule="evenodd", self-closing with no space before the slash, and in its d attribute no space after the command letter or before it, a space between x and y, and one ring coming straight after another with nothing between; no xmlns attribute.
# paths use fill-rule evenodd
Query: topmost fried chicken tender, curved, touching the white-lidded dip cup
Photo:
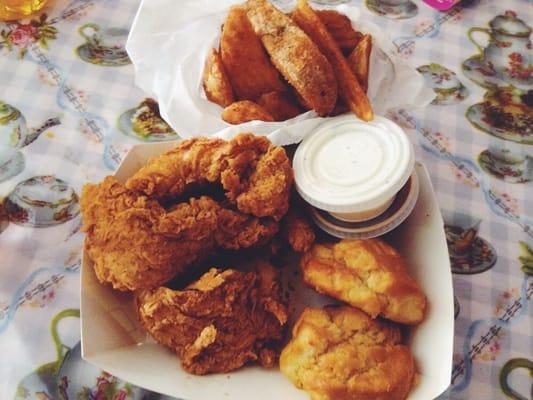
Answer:
<svg viewBox="0 0 533 400"><path fill-rule="evenodd" d="M282 147L243 133L224 141L195 138L154 157L126 182L150 197L175 197L194 183L220 182L239 211L279 221L288 210L293 172Z"/></svg>

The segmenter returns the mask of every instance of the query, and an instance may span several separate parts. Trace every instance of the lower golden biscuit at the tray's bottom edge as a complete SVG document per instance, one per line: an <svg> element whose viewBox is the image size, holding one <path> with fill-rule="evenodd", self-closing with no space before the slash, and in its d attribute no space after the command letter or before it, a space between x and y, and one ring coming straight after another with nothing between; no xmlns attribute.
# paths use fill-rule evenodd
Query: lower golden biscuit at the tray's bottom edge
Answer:
<svg viewBox="0 0 533 400"><path fill-rule="evenodd" d="M311 400L404 400L415 366L397 327L348 306L307 308L280 369Z"/></svg>

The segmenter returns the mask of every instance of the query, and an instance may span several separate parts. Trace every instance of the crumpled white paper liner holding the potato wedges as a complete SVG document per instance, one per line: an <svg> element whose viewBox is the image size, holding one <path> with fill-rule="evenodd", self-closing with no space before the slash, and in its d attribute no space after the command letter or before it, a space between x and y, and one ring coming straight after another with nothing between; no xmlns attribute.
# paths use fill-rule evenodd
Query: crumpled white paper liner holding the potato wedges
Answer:
<svg viewBox="0 0 533 400"><path fill-rule="evenodd" d="M251 121L230 125L222 108L207 100L201 79L205 58L218 46L221 25L236 0L143 0L126 49L135 83L159 102L163 118L184 138L239 132L267 135L276 145L301 141L323 118L314 111L284 122ZM292 8L283 2L284 11ZM347 15L353 26L373 37L368 95L377 115L396 107L423 107L434 98L424 78L396 56L383 29L360 20L357 7L328 7Z"/></svg>

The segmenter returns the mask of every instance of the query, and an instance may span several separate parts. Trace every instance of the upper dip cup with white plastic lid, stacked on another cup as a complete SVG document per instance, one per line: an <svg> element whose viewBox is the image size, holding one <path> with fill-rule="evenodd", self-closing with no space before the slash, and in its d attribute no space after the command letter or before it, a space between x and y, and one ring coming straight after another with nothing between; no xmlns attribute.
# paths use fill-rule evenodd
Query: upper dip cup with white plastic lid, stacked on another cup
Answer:
<svg viewBox="0 0 533 400"><path fill-rule="evenodd" d="M312 206L343 222L384 213L413 174L414 149L395 123L376 116L331 118L298 146L296 189Z"/></svg>

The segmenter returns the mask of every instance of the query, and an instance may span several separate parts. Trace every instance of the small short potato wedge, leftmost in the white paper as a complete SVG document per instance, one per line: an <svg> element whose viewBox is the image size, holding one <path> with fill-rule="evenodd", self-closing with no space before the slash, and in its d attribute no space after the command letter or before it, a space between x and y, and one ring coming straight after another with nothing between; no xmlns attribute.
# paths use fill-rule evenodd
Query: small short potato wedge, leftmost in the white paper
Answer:
<svg viewBox="0 0 533 400"><path fill-rule="evenodd" d="M217 103L221 107L233 103L233 89L220 55L215 49L211 49L205 60L203 86L205 95L213 103Z"/></svg>

